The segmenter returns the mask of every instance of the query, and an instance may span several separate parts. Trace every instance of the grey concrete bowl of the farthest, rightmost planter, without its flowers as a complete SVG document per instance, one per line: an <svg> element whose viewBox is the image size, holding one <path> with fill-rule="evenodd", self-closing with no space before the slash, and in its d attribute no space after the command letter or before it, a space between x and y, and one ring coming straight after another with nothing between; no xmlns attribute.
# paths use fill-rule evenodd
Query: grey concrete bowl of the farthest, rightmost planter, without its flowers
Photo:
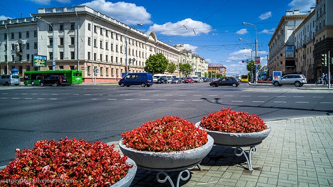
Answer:
<svg viewBox="0 0 333 187"><path fill-rule="evenodd" d="M270 126L267 125L267 129L260 132L250 132L250 133L232 133L232 132L220 132L212 131L205 129L200 126L200 122L196 123L195 126L206 130L209 135L214 139L214 143L221 145L230 145L230 146L244 146L244 145L253 145L260 143L265 139L269 132Z"/></svg>

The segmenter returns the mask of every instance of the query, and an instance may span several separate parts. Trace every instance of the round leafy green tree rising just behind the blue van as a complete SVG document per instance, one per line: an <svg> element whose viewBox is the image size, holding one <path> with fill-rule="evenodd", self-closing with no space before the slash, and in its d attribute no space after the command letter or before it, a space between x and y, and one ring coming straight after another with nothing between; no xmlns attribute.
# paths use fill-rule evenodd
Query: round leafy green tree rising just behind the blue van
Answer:
<svg viewBox="0 0 333 187"><path fill-rule="evenodd" d="M152 74L164 73L167 69L167 59L162 53L156 55L151 55L147 61L144 70L146 72L151 72Z"/></svg>

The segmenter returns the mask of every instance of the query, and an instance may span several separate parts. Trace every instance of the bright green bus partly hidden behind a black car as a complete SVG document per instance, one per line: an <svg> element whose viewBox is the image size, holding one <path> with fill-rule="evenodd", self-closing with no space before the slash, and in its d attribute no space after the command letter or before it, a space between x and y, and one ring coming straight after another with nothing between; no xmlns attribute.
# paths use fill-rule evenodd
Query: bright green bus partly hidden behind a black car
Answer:
<svg viewBox="0 0 333 187"><path fill-rule="evenodd" d="M81 84L81 70L46 70L46 71L25 71L24 85L39 85L41 79L45 79L51 75L64 75L67 77L68 84Z"/></svg>

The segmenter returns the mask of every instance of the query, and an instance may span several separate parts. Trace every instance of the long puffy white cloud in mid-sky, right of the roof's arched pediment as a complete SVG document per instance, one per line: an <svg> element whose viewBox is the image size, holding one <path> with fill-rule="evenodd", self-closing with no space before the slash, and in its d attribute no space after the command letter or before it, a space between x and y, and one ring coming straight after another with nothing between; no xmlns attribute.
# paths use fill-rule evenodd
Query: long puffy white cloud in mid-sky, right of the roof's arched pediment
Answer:
<svg viewBox="0 0 333 187"><path fill-rule="evenodd" d="M195 21L190 18L178 21L176 23L167 22L163 25L154 24L149 27L149 31L159 32L167 36L183 35L193 36L209 33L212 27L201 21Z"/></svg>

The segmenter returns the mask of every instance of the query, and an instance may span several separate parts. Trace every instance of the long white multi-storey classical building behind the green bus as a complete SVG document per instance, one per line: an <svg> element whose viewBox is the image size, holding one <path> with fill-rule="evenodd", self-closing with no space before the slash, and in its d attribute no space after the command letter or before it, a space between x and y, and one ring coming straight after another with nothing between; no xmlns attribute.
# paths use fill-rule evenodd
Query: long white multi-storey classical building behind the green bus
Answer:
<svg viewBox="0 0 333 187"><path fill-rule="evenodd" d="M0 74L38 70L33 55L47 56L47 69L79 69L83 81L113 81L143 72L150 55L162 53L178 66L180 50L87 6L39 8L29 18L0 21ZM127 45L127 48L126 48ZM128 63L126 63L128 59ZM53 61L55 66L53 67ZM178 69L172 73L180 76Z"/></svg>

